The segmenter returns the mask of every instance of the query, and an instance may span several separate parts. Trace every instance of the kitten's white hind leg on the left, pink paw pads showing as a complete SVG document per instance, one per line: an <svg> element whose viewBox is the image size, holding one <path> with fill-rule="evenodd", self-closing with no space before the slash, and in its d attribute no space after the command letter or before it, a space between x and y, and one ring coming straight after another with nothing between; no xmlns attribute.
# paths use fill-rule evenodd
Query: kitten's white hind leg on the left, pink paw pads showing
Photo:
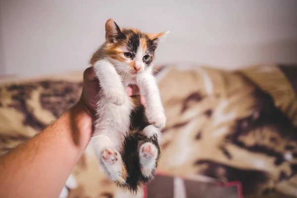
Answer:
<svg viewBox="0 0 297 198"><path fill-rule="evenodd" d="M114 144L111 140L106 135L99 134L92 137L90 143L110 179L119 183L125 183L127 171L120 153L114 149Z"/></svg>

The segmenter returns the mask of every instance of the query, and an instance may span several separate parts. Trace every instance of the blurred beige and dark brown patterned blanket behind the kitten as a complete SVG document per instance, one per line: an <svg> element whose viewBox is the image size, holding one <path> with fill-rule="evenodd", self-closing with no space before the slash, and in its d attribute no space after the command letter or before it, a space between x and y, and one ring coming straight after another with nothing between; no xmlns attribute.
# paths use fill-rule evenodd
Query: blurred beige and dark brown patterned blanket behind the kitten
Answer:
<svg viewBox="0 0 297 198"><path fill-rule="evenodd" d="M297 69L288 68L158 67L155 76L167 116L158 171L240 181L246 197L297 197L297 84L289 80ZM74 104L82 88L82 73L78 76L0 85L0 154L43 130ZM116 189L90 148L66 186L69 198L142 198L145 193L133 196Z"/></svg>

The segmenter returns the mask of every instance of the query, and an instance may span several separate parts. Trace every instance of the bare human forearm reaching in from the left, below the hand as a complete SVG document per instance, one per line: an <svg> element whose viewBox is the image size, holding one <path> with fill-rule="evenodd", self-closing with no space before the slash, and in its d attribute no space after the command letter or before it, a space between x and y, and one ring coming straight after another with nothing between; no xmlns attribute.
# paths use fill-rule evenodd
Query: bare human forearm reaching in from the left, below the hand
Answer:
<svg viewBox="0 0 297 198"><path fill-rule="evenodd" d="M42 133L0 157L1 196L58 197L91 134L92 118L78 103Z"/></svg>

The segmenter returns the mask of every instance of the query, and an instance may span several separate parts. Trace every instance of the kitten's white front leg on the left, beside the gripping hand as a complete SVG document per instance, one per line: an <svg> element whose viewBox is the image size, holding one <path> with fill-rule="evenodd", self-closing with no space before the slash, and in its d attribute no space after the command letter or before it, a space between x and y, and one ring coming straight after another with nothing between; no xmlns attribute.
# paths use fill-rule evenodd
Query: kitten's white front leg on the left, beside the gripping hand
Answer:
<svg viewBox="0 0 297 198"><path fill-rule="evenodd" d="M116 105L123 104L127 94L114 65L107 60L99 60L94 68L106 98Z"/></svg>

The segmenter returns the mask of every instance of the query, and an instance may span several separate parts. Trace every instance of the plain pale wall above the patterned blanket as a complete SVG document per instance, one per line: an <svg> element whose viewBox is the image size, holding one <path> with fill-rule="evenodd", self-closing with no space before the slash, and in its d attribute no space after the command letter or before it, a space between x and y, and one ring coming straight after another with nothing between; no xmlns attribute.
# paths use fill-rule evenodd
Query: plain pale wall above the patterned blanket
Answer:
<svg viewBox="0 0 297 198"><path fill-rule="evenodd" d="M170 30L159 63L297 63L296 0L0 0L0 17L2 74L86 68L109 17L146 32Z"/></svg>

